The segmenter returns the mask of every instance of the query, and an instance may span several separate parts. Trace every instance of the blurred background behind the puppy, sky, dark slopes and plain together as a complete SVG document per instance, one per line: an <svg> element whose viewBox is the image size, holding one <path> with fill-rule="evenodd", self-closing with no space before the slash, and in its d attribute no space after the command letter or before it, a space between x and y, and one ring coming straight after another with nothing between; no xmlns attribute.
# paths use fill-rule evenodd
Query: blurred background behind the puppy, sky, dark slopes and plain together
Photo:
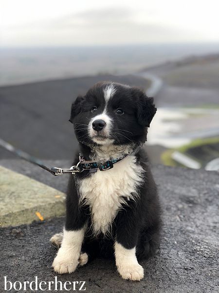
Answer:
<svg viewBox="0 0 219 293"><path fill-rule="evenodd" d="M71 161L71 104L111 80L155 98L151 164L219 170L217 1L0 5L0 139L40 159ZM14 156L0 148L7 158Z"/></svg>

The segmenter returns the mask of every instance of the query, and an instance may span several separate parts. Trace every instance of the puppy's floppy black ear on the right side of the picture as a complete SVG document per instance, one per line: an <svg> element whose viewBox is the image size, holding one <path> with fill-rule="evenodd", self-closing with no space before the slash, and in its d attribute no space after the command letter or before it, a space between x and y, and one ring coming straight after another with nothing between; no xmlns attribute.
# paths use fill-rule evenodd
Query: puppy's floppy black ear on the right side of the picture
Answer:
<svg viewBox="0 0 219 293"><path fill-rule="evenodd" d="M154 99L148 98L146 94L137 87L131 88L132 97L136 102L136 116L138 123L142 126L150 127L157 108L154 105Z"/></svg>

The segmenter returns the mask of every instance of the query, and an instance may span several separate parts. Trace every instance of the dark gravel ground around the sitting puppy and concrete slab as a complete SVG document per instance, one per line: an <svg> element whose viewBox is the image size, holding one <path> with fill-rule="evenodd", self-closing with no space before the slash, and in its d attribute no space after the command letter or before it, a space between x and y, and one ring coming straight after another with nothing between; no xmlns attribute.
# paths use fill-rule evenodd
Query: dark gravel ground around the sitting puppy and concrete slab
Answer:
<svg viewBox="0 0 219 293"><path fill-rule="evenodd" d="M3 163L7 165L6 160L0 162ZM12 163L8 167L11 164L15 168L15 161ZM23 172L28 168L23 167ZM32 171L29 168L29 174ZM73 274L58 275L59 281L86 281L86 292L91 293L219 292L219 174L164 166L153 167L153 173L163 206L164 227L160 250L141 263L144 280L122 280L113 261L96 259ZM51 175L39 178L49 185L57 179ZM58 180L59 190L64 190L66 179ZM39 281L54 280L51 265L56 249L49 239L62 230L63 224L64 218L55 218L0 229L0 292L5 275L13 282L33 281L35 276Z"/></svg>

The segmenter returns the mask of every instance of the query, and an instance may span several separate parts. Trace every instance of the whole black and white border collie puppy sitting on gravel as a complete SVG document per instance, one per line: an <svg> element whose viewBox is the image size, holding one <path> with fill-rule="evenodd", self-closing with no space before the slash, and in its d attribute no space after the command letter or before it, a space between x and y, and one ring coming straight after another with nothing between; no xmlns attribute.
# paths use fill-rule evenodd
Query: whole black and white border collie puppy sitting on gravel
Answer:
<svg viewBox="0 0 219 293"><path fill-rule="evenodd" d="M121 277L139 281L159 243L157 188L143 144L156 112L153 98L136 87L97 83L72 104L70 122L79 142L66 200L63 233L53 262L74 272L97 255L115 257Z"/></svg>

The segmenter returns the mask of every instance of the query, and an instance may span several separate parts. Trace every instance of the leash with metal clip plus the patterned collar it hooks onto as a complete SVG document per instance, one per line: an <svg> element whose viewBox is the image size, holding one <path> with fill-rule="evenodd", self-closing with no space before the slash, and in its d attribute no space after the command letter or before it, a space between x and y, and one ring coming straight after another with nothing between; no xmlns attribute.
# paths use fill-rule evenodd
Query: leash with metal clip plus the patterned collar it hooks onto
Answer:
<svg viewBox="0 0 219 293"><path fill-rule="evenodd" d="M96 162L96 161L92 161L92 160L86 161L86 160L84 160L84 158L80 154L79 155L79 162L77 163L77 165L72 166L70 169L65 170L65 169L58 168L58 167L52 167L52 168L46 167L43 164L43 162L40 161L39 159L35 158L34 156L29 155L28 153L26 153L18 148L15 148L14 146L5 142L1 138L0 138L0 146L3 147L4 149L14 153L19 158L22 158L25 161L28 161L34 165L37 165L37 166L43 168L44 170L50 172L54 176L69 174L69 173L72 173L74 175L75 173L81 173L84 170L89 170L91 173L97 172L98 169L100 171L109 170L109 169L113 168L113 165L115 163L120 162L121 160L125 159L128 156L128 154L121 154L121 156L119 158L116 158L113 160L104 161L104 162Z"/></svg>

